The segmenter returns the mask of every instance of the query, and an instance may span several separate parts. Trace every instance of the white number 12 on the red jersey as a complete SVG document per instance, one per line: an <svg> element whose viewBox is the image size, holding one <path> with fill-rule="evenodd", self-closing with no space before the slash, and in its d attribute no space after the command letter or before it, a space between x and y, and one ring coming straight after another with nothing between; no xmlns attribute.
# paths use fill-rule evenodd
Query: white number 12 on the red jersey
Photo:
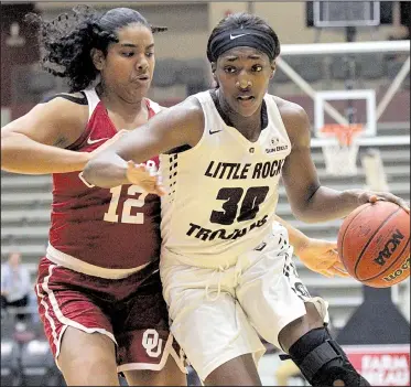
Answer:
<svg viewBox="0 0 411 387"><path fill-rule="evenodd" d="M117 208L118 208L119 200L121 196L121 189L122 189L122 185L118 185L110 190L111 201L110 201L108 211L105 214L104 221L112 222L112 223L119 222L119 215L117 214ZM138 185L130 185L127 191L127 194L129 196L132 196L136 194L140 194L140 195L138 196L138 198L129 197L125 201L125 204L122 206L120 222L131 223L134 225L142 225L144 223L144 214L138 213L136 215L131 215L131 208L132 207L141 208L144 205L144 200L148 193L143 192L142 189L140 189Z"/></svg>

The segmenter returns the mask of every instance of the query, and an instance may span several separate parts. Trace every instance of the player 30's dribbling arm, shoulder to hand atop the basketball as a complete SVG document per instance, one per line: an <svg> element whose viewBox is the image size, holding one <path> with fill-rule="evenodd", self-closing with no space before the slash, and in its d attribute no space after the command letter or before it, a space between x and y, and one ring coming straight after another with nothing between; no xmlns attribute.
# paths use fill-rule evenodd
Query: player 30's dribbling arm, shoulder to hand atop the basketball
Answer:
<svg viewBox="0 0 411 387"><path fill-rule="evenodd" d="M377 200L393 202L409 211L408 204L391 193L360 189L336 191L323 186L311 158L310 120L306 112L291 103L280 103L279 107L292 143L282 178L291 208L298 218L307 223L343 218L359 205Z"/></svg>

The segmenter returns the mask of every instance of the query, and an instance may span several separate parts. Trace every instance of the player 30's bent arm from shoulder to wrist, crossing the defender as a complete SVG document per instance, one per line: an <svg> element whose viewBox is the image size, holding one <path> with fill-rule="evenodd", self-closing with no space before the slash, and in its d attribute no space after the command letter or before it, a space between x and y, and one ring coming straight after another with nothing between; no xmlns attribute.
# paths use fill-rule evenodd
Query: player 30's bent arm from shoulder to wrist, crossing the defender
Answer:
<svg viewBox="0 0 411 387"><path fill-rule="evenodd" d="M188 98L161 111L148 123L91 158L83 172L84 179L101 187L130 183L140 185L131 173L132 163L143 163L184 144L194 147L202 138L203 130L203 110L196 100Z"/></svg>

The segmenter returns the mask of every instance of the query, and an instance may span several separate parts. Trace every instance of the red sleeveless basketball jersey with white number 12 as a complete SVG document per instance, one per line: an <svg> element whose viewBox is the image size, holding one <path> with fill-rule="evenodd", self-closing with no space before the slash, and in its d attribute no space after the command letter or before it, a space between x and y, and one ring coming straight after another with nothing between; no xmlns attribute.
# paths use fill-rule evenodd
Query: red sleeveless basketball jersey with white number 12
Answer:
<svg viewBox="0 0 411 387"><path fill-rule="evenodd" d="M96 92L85 94L89 120L82 137L68 149L90 152L113 137L117 129ZM149 99L147 104L151 118L160 106ZM159 166L158 158L152 161ZM100 189L90 186L80 172L53 174L47 248L47 258L53 261L137 268L159 258L159 225L160 198L142 193L137 185Z"/></svg>

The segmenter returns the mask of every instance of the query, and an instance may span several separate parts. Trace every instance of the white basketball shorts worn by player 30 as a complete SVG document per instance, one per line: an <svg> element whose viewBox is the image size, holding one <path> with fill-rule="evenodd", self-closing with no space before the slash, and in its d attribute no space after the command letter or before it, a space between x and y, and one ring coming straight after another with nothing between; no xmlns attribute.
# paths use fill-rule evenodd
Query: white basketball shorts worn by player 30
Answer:
<svg viewBox="0 0 411 387"><path fill-rule="evenodd" d="M171 331L203 380L244 354L252 354L257 363L264 353L259 335L281 348L279 333L306 313L304 302L313 302L328 322L327 303L311 298L292 251L281 226L230 268L199 268L182 264L175 255L162 256Z"/></svg>

